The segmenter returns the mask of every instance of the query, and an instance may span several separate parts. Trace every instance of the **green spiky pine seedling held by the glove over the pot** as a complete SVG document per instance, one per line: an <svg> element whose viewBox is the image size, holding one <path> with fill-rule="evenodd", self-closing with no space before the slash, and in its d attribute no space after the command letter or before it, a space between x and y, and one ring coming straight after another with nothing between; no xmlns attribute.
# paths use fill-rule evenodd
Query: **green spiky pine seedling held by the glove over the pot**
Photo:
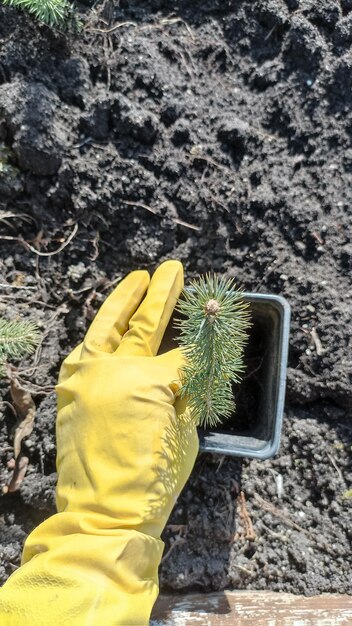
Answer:
<svg viewBox="0 0 352 626"><path fill-rule="evenodd" d="M176 311L182 315L176 326L186 359L179 395L187 398L197 424L213 427L235 410L232 383L244 371L248 304L233 280L208 274L184 289Z"/></svg>

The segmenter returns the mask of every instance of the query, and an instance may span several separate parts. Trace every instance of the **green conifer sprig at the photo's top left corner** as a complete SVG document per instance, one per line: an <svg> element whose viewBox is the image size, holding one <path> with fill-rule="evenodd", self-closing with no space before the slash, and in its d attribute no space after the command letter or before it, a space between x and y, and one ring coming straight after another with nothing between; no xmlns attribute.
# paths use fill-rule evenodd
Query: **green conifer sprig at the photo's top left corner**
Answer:
<svg viewBox="0 0 352 626"><path fill-rule="evenodd" d="M52 27L65 27L72 11L67 0L0 0L2 4L23 9L39 22Z"/></svg>

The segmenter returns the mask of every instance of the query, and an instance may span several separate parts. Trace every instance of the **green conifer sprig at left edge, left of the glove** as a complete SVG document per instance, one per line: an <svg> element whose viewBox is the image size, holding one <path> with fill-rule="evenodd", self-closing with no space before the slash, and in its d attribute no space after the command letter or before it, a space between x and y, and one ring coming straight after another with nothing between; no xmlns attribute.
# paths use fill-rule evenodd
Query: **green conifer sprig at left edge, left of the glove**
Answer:
<svg viewBox="0 0 352 626"><path fill-rule="evenodd" d="M20 359L32 354L39 341L40 332L33 322L0 318L0 376L6 373L8 359Z"/></svg>

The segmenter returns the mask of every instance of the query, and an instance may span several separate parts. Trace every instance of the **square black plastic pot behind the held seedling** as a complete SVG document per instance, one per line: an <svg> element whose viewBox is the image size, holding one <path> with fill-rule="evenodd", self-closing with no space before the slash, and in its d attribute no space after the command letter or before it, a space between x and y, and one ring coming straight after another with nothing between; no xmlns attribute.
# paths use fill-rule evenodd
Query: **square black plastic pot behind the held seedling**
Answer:
<svg viewBox="0 0 352 626"><path fill-rule="evenodd" d="M271 294L245 293L252 328L246 372L234 387L236 412L223 427L200 430L200 448L228 456L267 459L280 444L285 400L290 306Z"/></svg>

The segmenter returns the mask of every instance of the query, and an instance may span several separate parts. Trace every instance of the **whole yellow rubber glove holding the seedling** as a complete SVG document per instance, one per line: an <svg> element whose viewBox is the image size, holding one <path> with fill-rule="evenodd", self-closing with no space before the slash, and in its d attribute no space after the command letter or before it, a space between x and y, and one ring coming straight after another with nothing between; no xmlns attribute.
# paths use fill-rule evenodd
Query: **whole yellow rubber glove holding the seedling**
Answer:
<svg viewBox="0 0 352 626"><path fill-rule="evenodd" d="M156 356L182 287L177 261L151 280L132 272L64 361L58 513L29 535L0 590L1 626L149 623L160 534L198 450L194 423L175 405L181 353Z"/></svg>

